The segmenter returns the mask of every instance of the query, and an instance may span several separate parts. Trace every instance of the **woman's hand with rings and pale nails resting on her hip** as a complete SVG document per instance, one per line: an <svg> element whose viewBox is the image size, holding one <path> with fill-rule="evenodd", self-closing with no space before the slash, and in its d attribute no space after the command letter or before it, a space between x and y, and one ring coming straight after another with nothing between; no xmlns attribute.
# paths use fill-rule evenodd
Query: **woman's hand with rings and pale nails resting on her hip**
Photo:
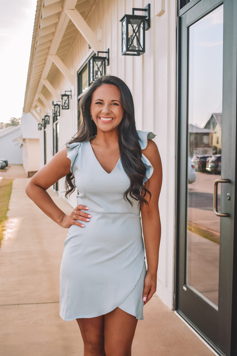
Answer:
<svg viewBox="0 0 237 356"><path fill-rule="evenodd" d="M79 221L85 221L88 223L92 216L90 214L85 213L82 210L89 210L88 206L85 205L77 205L74 210L71 211L68 215L64 215L61 223L59 224L62 227L65 227L65 229L68 229L71 225L77 225L80 227L85 227L84 224L79 223Z"/></svg>

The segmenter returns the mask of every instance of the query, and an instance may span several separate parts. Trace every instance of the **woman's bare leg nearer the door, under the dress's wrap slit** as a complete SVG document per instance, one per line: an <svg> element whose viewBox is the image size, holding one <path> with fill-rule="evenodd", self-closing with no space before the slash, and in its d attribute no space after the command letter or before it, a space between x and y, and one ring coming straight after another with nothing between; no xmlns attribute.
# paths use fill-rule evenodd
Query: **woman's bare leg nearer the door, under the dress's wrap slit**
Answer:
<svg viewBox="0 0 237 356"><path fill-rule="evenodd" d="M104 315L104 349L106 356L131 356L131 346L138 320L116 308Z"/></svg>

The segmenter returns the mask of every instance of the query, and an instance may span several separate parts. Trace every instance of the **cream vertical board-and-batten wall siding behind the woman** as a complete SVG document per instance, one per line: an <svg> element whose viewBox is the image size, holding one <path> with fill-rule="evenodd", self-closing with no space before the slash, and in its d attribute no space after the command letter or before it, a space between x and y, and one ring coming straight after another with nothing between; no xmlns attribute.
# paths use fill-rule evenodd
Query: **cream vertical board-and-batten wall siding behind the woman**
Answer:
<svg viewBox="0 0 237 356"><path fill-rule="evenodd" d="M174 270L174 205L175 205L175 150L176 150L176 1L165 1L165 12L160 12L161 0L151 3L151 27L145 32L146 52L141 56L121 55L121 22L132 7L145 7L142 0L99 0L95 2L88 25L101 41L101 50L110 50L110 64L106 73L123 79L130 88L135 105L138 130L153 131L163 164L163 185L160 197L162 238L158 268L157 294L173 306ZM77 72L86 62L92 49L78 33L64 63L74 76L74 86L60 72L53 87L62 94L72 89L70 110L62 110L59 118L59 149L77 131ZM50 127L48 127L50 126ZM52 157L52 122L47 126L47 161ZM43 165L43 131L41 134L41 166ZM64 190L64 179L59 190ZM64 193L60 193L61 196ZM75 194L71 204L75 206Z"/></svg>

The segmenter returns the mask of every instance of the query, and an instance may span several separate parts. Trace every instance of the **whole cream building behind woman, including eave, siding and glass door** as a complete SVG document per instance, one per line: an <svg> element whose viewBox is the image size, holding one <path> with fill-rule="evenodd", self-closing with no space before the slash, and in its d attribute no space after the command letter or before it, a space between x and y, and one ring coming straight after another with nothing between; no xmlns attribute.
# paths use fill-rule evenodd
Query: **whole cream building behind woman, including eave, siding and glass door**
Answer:
<svg viewBox="0 0 237 356"><path fill-rule="evenodd" d="M232 262L229 263L229 261L233 261L233 254L231 254L233 239L228 240L230 245L226 247L224 257L221 254L227 240L223 240L220 250L218 247L220 256L223 258L220 258L220 264L213 272L213 276L210 274L210 281L207 282L207 285L211 286L215 280L215 286L213 284L213 288L211 287L213 290L208 289L205 292L204 289L209 287L195 283L193 285L188 279L193 271L192 268L195 267L195 276L202 280L208 274L199 271L203 271L203 266L206 266L208 271L211 270L215 262L219 261L219 255L215 258L214 255L212 256L212 251L217 250L217 245L211 245L213 241L204 237L204 232L212 229L208 223L204 224L205 227L201 226L201 231L204 232L197 232L200 229L196 229L196 232L192 231L194 234L192 235L193 249L189 246L190 229L195 224L203 224L202 219L209 216L206 211L211 211L212 205L211 208L190 205L195 200L192 191L200 188L197 185L200 184L200 181L202 182L203 177L210 180L211 176L201 176L201 173L198 172L196 185L193 183L192 188L187 183L189 145L187 127L189 124L196 125L194 120L199 120L202 117L202 113L199 112L200 107L207 105L205 104L207 101L210 103L211 100L219 98L220 92L222 95L223 70L225 72L223 78L228 78L228 81L226 79L226 82L223 82L223 117L225 116L226 128L223 127L222 122L222 159L225 160L225 152L228 151L228 154L232 151L235 152L234 148L232 151L225 148L225 142L230 145L231 140L235 140L235 136L231 136L231 139L225 136L227 134L224 135L225 137L223 136L223 132L230 125L232 134L235 133L235 124L230 124L228 121L230 118L234 120L235 112L233 111L231 114L227 112L230 108L236 108L236 72L232 67L232 63L236 63L236 37L230 38L226 32L228 30L228 34L237 33L236 8L234 11L233 4L235 4L233 0L225 0L223 4L219 0L152 0L150 2L150 28L145 31L145 53L140 56L123 56L120 19L125 14L132 14L132 8L144 9L147 5L144 0L38 0L23 107L24 114L31 113L34 117L32 122L35 127L41 124L45 115L50 115L49 124L39 131L39 160L42 167L75 135L78 122L78 100L89 85L89 59L97 54L97 51L107 51L109 48L109 66L106 66L106 73L116 75L128 84L134 98L137 129L156 133L155 142L163 164L163 185L160 197L162 237L157 274L157 294L169 308L177 310L217 352L222 350L221 355L234 355L231 354L230 347L232 346L230 345L233 344L231 335L234 335L235 332L234 327L230 332L230 325L234 325L231 320L235 315L235 309L231 308L227 314L223 312L223 310L226 311L226 305L231 304L231 298L235 297L235 288L231 284L231 281L234 280L231 279L234 273L233 265L231 265ZM138 13L136 12L136 14ZM139 14L144 15L145 12ZM201 29L201 26L206 26L205 31ZM208 42L209 30L212 37L210 36ZM231 52L231 45L228 47L230 43L233 52ZM219 46L217 53L205 52L207 50L214 51L215 46ZM225 51L223 51L223 46ZM203 57L201 57L202 54ZM215 65L214 62L210 62L209 65L209 58L215 58ZM234 62L229 63L228 58L233 58ZM216 67L217 63L221 63L218 68ZM220 77L218 83L215 82L217 74L210 79L208 77L214 70ZM193 77L195 80L192 82ZM228 87L226 83L233 85L232 91L228 92L228 95L226 94ZM212 88L209 88L209 84L212 85ZM216 88L220 88L218 95ZM67 91L71 91L70 109L61 110L59 117L53 117L52 101L60 102L61 94ZM233 96L230 93L234 93ZM204 97L201 96L202 94ZM196 104L195 98L199 98L198 104ZM230 100L232 100L231 103ZM220 112L220 105L214 104L206 110L209 110L210 113ZM193 118L194 116L195 118ZM199 127L203 126L200 124ZM233 147L236 147L234 142ZM229 174L227 168L231 160L227 159L226 162L222 164L222 169L225 169L222 171L225 177ZM235 157L232 158L232 162L236 162ZM233 172L231 174L234 174ZM235 176L231 178L231 182L235 181L234 178ZM205 189L200 188L200 191L196 193L196 196L209 194L208 197L203 197L204 204L209 204L206 202L213 195L212 182L209 186L211 187L210 193L207 193L209 188L206 187ZM231 188L231 194L234 192L234 187ZM55 184L54 189L63 197L64 179ZM224 201L226 194L221 199ZM71 204L75 205L75 194ZM230 204L233 204L233 200ZM230 209L228 206L223 206L222 209ZM194 223L194 218L192 218L192 224L187 224L190 211L195 211L194 218L199 216L200 212L205 214L198 222ZM213 223L213 229L215 229L215 225L221 226L221 230L219 229L220 240L220 236L227 231L227 227L223 230L223 226L228 219L221 218L220 225L220 221L215 222L216 215L213 211L212 213L213 216L210 216L209 224ZM228 225L228 231L233 237L231 224L232 222ZM208 262L208 258L202 260L203 253L200 253L200 258L193 257L191 252L196 251L195 248L199 248L194 248L195 241L199 241L199 239L201 239L199 246L204 246L205 243L210 244L208 246L213 263ZM229 251L229 255L226 254L226 251ZM226 259L228 263L223 263ZM200 266L198 265L199 261L201 261ZM225 270L227 265L230 266L228 271ZM191 268L191 272L189 271L190 266L194 266ZM199 275L198 273L203 274ZM222 280L222 275L230 278ZM220 282L218 282L218 276L220 276ZM195 279L195 282L198 278ZM229 284L224 287L227 281ZM230 292L224 295L225 290ZM206 315L209 315L209 321L206 320ZM220 337L222 334L225 337Z"/></svg>

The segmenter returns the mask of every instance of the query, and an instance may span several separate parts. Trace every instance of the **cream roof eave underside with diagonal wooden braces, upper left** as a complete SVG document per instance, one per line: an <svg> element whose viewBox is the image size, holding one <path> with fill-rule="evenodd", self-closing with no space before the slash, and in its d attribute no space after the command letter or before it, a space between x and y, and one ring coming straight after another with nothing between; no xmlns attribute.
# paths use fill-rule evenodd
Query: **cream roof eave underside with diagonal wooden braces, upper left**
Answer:
<svg viewBox="0 0 237 356"><path fill-rule="evenodd" d="M81 33L95 52L100 49L100 41L86 22L95 2L96 0L37 1L23 112L32 112L37 106L43 115L44 106L49 107L52 98L59 100L52 85L58 70L75 85L75 79L65 66L64 59L77 33ZM68 48L66 52L65 46ZM51 98L44 96L45 89Z"/></svg>

